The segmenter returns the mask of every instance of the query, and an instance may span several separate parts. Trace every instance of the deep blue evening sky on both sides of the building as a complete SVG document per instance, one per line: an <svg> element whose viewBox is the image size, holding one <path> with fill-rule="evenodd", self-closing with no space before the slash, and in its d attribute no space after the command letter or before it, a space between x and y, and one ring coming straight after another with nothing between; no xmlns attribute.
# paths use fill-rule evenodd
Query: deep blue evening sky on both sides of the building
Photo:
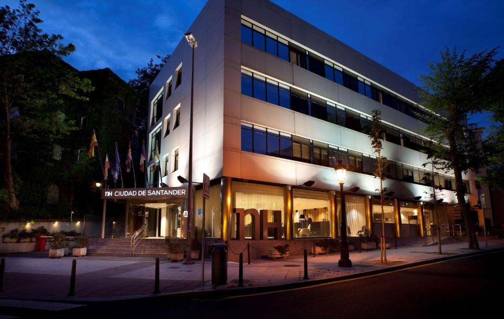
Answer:
<svg viewBox="0 0 504 319"><path fill-rule="evenodd" d="M250 0L253 1L253 0ZM135 77L156 54L170 53L201 11L203 0L31 0L44 20L77 51L66 60L79 70L108 67L122 79ZM409 81L428 73L445 46L468 54L502 46L502 0L274 0ZM17 1L7 0L11 7ZM484 116L476 116L475 121Z"/></svg>

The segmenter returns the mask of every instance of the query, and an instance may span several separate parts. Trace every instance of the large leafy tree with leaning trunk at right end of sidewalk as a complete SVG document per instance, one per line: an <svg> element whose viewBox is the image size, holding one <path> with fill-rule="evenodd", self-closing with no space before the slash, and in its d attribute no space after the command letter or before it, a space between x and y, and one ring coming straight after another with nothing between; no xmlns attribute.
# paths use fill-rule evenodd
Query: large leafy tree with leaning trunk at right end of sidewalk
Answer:
<svg viewBox="0 0 504 319"><path fill-rule="evenodd" d="M425 84L420 92L423 104L431 111L422 115L424 132L436 143L431 155L436 169L453 171L456 196L465 222L469 248L479 248L474 226L465 200L466 186L462 173L478 170L483 154L477 143L474 124L468 124L470 114L488 105L485 77L492 70L496 49L466 57L454 48L445 48L439 62L430 62L430 73L421 76Z"/></svg>

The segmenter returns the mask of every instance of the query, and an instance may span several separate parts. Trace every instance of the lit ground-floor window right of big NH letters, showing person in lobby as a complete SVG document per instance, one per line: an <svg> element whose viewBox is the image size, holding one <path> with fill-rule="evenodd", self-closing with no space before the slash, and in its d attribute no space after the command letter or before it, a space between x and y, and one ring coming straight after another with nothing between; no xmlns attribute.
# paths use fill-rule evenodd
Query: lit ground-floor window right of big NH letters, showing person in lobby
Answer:
<svg viewBox="0 0 504 319"><path fill-rule="evenodd" d="M294 236L331 236L329 194L309 189L292 190L294 210Z"/></svg>

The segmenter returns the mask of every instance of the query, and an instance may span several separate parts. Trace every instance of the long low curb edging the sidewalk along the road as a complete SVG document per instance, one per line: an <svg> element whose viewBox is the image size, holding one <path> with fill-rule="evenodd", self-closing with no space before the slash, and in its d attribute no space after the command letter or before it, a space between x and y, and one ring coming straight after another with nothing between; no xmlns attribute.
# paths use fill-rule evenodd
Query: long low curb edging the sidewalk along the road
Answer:
<svg viewBox="0 0 504 319"><path fill-rule="evenodd" d="M75 296L75 297L34 297L34 296L33 297L26 297L26 296L25 297L15 297L15 296L11 296L11 297L0 298L0 299L17 299L17 300L33 300L33 301L65 302L65 303L83 303L83 302L84 303L100 303L100 302L132 300L132 299L185 298L185 297L192 297L192 298L205 297L206 299L209 299L209 298L219 299L219 298L238 297L238 296L250 295L250 294L273 293L276 291L283 291L283 290L290 290L290 289L308 288L310 286L337 283L340 281L346 281L346 280L362 278L362 277L367 277L367 276L372 276L372 275L387 274L387 273L391 273L394 271L413 268L413 267L417 267L417 266L435 264L438 262L444 262L444 261L455 260L455 259L460 259L460 258L478 256L478 255L489 253L489 252L493 253L493 252L499 252L499 251L504 251L504 248L500 247L500 248L494 248L494 249L480 249L478 251L461 253L461 254L456 254L456 255L451 255L451 256L446 256L446 257L440 257L440 258L436 258L436 259L431 259L431 260L426 260L426 261L421 261L421 262L414 262L414 263L410 263L410 264L390 266L387 268L364 271L361 273L346 275L346 276L341 276L341 277L306 280L306 281L299 281L299 282L294 282L294 283L271 285L271 286L257 286L257 287L243 287L243 288L235 287L235 288L217 289L217 290L203 290L203 291L186 290L186 291L179 291L179 292L165 292L165 293L159 293L159 294L144 294L144 295L117 296L117 297L78 297L78 296Z"/></svg>

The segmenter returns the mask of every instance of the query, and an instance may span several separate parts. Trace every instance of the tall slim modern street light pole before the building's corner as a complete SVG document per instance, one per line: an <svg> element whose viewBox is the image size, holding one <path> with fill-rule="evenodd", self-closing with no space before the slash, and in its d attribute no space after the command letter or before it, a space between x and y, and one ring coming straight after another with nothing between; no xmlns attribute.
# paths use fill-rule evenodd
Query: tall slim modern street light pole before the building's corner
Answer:
<svg viewBox="0 0 504 319"><path fill-rule="evenodd" d="M191 68L191 112L189 113L189 173L187 189L187 249L184 264L194 264L191 260L191 250L193 244L193 100L194 100L194 49L198 46L198 41L192 32L184 34L187 43L193 48L193 65Z"/></svg>

